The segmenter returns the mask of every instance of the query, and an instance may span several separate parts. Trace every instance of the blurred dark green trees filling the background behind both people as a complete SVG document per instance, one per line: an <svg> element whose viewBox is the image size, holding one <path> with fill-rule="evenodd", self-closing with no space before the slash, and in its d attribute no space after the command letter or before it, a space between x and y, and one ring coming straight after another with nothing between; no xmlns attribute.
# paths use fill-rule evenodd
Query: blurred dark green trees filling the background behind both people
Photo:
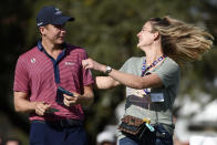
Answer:
<svg viewBox="0 0 217 145"><path fill-rule="evenodd" d="M121 68L132 55L143 55L136 48L137 32L146 19L151 17L170 15L200 27L206 27L214 37L217 35L215 19L217 2L215 0L8 0L0 6L0 38L2 44L1 62L1 95L0 111L12 124L28 133L29 124L25 115L13 112L12 82L16 61L19 54L37 44L39 32L35 15L41 7L53 4L64 13L75 17L68 23L68 42L83 46L91 58ZM215 62L217 62L216 45L203 61L195 62L183 71L179 93L192 93L199 87L211 94L216 92ZM10 64L10 65L9 65ZM94 75L102 75L93 72ZM215 81L214 81L215 80ZM115 123L115 106L124 99L124 87L110 91L95 90L95 102L86 112L86 128L94 144L95 135L107 123Z"/></svg>

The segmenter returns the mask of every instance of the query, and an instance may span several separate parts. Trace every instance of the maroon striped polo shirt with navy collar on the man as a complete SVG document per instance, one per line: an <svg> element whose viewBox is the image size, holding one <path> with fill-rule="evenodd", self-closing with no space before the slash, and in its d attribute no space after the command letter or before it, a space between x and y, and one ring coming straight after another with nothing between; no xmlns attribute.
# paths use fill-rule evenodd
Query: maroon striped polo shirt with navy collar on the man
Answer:
<svg viewBox="0 0 217 145"><path fill-rule="evenodd" d="M30 101L44 101L52 107L59 110L53 114L38 116L30 114L32 120L60 120L60 118L84 118L82 106L74 105L65 107L56 103L56 89L62 86L65 90L83 93L83 86L93 84L90 70L84 70L82 60L87 58L84 49L66 44L65 49L55 62L50 58L41 44L27 53L20 55L16 66L13 91L25 92Z"/></svg>

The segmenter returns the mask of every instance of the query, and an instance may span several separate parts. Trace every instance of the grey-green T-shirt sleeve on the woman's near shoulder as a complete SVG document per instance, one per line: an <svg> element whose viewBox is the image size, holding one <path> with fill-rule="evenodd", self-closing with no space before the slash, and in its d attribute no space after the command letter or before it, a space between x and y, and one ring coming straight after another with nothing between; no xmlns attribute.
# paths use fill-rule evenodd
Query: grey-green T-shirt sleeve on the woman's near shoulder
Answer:
<svg viewBox="0 0 217 145"><path fill-rule="evenodd" d="M163 62L162 66L153 73L159 76L165 87L179 82L179 66L174 61Z"/></svg>

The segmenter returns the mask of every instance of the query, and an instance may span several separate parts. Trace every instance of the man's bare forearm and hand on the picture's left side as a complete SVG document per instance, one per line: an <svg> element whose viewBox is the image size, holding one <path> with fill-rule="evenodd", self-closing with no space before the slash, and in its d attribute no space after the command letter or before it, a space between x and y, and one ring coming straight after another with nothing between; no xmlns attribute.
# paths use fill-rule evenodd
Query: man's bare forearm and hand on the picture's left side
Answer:
<svg viewBox="0 0 217 145"><path fill-rule="evenodd" d="M44 115L45 111L50 107L44 102L30 102L28 93L14 92L14 110L16 112L30 113L35 112L38 115Z"/></svg>

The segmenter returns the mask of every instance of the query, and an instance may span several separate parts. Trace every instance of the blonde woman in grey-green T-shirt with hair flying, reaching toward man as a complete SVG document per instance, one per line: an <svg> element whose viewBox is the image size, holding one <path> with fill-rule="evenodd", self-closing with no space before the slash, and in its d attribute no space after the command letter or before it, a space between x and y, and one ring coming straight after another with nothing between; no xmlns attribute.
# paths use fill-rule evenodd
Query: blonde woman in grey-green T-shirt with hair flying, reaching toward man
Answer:
<svg viewBox="0 0 217 145"><path fill-rule="evenodd" d="M85 69L108 75L96 76L99 89L125 85L124 116L146 122L145 131L140 134L120 131L120 145L172 145L172 107L179 84L179 66L199 60L210 49L214 38L204 29L169 17L147 20L137 38L137 46L145 56L128 59L120 71L92 59L82 63Z"/></svg>

